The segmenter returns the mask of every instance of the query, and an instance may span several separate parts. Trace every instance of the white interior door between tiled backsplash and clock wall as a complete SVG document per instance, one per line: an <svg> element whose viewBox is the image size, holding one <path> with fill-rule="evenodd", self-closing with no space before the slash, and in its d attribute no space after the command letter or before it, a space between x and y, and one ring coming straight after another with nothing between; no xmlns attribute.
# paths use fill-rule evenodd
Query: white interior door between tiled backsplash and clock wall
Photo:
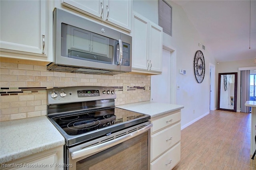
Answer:
<svg viewBox="0 0 256 170"><path fill-rule="evenodd" d="M151 76L151 100L171 103L171 52L162 51L162 74Z"/></svg>

